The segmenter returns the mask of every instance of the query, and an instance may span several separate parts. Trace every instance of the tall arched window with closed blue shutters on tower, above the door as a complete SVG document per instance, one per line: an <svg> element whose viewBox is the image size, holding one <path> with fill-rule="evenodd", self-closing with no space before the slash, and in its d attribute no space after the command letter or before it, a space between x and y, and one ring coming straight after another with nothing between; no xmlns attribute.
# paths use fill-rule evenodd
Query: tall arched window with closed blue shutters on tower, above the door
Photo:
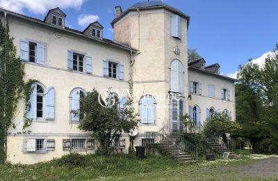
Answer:
<svg viewBox="0 0 278 181"><path fill-rule="evenodd" d="M170 91L183 93L183 65L177 59L170 64Z"/></svg>

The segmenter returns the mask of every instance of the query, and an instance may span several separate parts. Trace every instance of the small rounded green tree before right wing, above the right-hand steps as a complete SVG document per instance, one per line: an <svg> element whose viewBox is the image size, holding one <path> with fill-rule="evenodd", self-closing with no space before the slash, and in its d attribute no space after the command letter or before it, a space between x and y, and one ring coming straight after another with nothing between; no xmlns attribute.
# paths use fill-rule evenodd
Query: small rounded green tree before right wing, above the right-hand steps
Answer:
<svg viewBox="0 0 278 181"><path fill-rule="evenodd" d="M240 129L240 125L236 121L231 121L227 113L213 113L213 116L204 125L204 134L210 136L216 134L222 136L227 143L227 134L233 134Z"/></svg>

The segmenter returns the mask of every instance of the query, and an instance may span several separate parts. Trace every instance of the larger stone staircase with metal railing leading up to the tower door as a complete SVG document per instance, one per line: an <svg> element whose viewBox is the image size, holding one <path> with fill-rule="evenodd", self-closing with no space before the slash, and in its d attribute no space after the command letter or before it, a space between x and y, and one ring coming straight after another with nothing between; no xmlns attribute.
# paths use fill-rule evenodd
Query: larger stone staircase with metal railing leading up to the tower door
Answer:
<svg viewBox="0 0 278 181"><path fill-rule="evenodd" d="M145 139L151 142L145 143L146 147L156 145L180 162L195 162L195 158L197 159L197 148L188 141L187 143L186 140L181 139L181 134L145 132Z"/></svg>

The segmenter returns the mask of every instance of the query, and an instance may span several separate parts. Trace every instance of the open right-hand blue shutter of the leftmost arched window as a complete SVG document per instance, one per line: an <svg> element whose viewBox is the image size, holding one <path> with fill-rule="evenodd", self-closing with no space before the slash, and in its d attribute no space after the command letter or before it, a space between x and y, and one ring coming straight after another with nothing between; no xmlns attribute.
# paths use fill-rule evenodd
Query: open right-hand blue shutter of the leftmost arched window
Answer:
<svg viewBox="0 0 278 181"><path fill-rule="evenodd" d="M47 120L54 120L55 118L55 89L50 87L47 89L47 104L46 104L46 116Z"/></svg>

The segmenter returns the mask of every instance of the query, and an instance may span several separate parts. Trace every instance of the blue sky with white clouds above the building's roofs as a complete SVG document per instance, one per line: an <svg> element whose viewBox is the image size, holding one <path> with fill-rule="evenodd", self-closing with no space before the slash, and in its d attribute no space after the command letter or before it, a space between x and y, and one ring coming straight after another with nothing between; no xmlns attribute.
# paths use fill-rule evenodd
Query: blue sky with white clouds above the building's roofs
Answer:
<svg viewBox="0 0 278 181"><path fill-rule="evenodd" d="M0 0L0 7L44 19L59 6L67 15L66 26L83 31L98 20L104 38L113 40L114 7L126 10L138 1L143 0ZM220 63L224 75L235 77L238 65L250 58L262 65L278 43L277 0L164 1L190 16L188 48L197 49L206 65Z"/></svg>

